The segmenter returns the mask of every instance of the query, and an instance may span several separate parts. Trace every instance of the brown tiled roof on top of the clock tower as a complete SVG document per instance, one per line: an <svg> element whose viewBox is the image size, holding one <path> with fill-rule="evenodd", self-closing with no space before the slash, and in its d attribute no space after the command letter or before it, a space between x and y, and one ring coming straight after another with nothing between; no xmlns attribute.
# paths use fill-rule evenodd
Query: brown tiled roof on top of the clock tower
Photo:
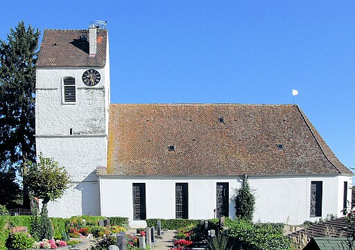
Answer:
<svg viewBox="0 0 355 250"><path fill-rule="evenodd" d="M97 52L89 57L89 42L80 42L80 35L89 30L44 30L36 66L105 66L107 30L97 30Z"/></svg>

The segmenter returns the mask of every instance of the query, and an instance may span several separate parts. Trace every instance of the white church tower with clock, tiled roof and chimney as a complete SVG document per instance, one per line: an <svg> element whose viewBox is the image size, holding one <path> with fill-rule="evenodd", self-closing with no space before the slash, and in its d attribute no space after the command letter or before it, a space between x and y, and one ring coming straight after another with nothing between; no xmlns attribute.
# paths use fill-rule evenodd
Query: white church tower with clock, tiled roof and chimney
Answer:
<svg viewBox="0 0 355 250"><path fill-rule="evenodd" d="M49 216L100 215L96 168L107 163L110 107L105 23L88 30L44 30L36 64L36 150L71 175Z"/></svg>

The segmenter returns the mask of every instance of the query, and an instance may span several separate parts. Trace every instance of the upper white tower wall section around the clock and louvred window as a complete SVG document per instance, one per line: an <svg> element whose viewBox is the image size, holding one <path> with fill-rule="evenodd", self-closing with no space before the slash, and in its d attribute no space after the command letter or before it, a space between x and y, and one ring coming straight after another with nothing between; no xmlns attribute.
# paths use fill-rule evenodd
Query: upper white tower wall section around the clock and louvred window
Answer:
<svg viewBox="0 0 355 250"><path fill-rule="evenodd" d="M87 87L82 75L87 69L101 73L101 81ZM107 133L108 91L105 68L40 68L36 89L36 134L65 135ZM76 102L63 103L62 82L65 77L76 79ZM109 80L109 78L108 78Z"/></svg>

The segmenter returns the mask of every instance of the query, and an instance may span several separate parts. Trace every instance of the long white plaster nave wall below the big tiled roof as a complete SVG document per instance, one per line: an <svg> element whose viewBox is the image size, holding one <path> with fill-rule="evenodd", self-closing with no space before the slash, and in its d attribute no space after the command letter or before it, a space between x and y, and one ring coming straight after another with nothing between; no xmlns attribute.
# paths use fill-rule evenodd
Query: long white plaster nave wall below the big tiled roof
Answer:
<svg viewBox="0 0 355 250"><path fill-rule="evenodd" d="M322 217L338 214L343 206L343 179L351 177L249 177L256 197L254 221L301 224L310 217L311 181L323 181ZM234 217L232 197L241 187L239 177L214 178L121 178L101 177L101 215L124 216L132 220L132 183L146 183L147 218L175 218L175 183L189 185L189 218L209 219L216 208L216 183L230 184L230 217ZM351 181L349 181L351 183ZM341 198L339 198L341 197ZM339 204L340 202L340 204ZM343 208L342 208L343 209ZM341 210L341 209L340 209Z"/></svg>

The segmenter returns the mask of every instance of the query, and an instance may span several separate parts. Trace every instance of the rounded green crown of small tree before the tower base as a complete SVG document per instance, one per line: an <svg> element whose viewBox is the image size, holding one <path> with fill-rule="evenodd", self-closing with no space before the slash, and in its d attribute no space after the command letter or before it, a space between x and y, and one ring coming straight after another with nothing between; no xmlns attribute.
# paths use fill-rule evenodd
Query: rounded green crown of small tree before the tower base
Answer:
<svg viewBox="0 0 355 250"><path fill-rule="evenodd" d="M68 188L70 176L64 167L52 158L44 158L42 154L37 164L31 164L24 172L26 184L33 196L44 199L44 204L60 198Z"/></svg>

